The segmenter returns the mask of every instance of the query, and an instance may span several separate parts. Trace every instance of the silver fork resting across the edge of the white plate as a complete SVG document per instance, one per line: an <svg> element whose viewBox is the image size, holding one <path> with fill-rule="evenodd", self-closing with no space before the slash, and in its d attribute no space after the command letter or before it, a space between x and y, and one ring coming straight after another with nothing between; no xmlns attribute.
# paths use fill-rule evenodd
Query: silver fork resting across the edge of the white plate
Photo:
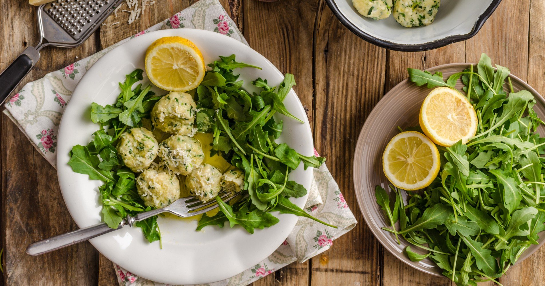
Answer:
<svg viewBox="0 0 545 286"><path fill-rule="evenodd" d="M228 202L234 197L237 197L240 193L231 194L225 193L220 198L223 202ZM144 211L136 216L132 217L127 215L117 228L110 228L108 225L103 222L95 224L94 226L89 226L85 228L80 228L74 230L74 232L69 232L57 236L53 236L49 239L40 240L29 245L27 248L27 254L32 256L37 256L60 248L77 244L82 241L86 241L96 236L113 232L114 230L120 229L124 226L131 226L137 222L145 220L146 218L159 215L162 212L170 212L171 214L180 216L180 217L190 217L200 214L204 214L209 210L213 210L218 207L216 200L211 200L207 203L202 203L200 200L195 197L185 197L179 198L174 201L174 203L165 206L164 208Z"/></svg>

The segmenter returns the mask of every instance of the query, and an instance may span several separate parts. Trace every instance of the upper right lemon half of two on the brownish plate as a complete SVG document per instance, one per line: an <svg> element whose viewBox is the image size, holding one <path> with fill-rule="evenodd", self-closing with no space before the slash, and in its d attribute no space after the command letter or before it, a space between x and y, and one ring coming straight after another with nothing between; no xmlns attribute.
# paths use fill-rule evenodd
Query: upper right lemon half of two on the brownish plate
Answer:
<svg viewBox="0 0 545 286"><path fill-rule="evenodd" d="M420 127L435 144L466 143L477 132L477 115L465 96L448 87L438 87L426 96L420 108Z"/></svg>

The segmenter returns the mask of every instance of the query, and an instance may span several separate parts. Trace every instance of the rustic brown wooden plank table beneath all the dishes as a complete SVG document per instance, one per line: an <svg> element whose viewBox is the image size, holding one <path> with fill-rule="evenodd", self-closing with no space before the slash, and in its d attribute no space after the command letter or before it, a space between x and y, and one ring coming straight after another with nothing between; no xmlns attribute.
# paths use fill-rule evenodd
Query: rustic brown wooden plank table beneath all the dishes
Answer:
<svg viewBox="0 0 545 286"><path fill-rule="evenodd" d="M384 251L361 217L352 182L352 157L361 126L378 100L407 77L406 68L477 62L482 52L495 64L545 92L545 1L504 0L473 39L433 51L385 50L341 25L324 0L221 0L250 46L282 72L297 79L296 92L312 123L316 149L359 223L325 253L293 263L254 285L449 285L411 269ZM190 0L156 0L140 20L127 13L78 48L45 48L25 83L63 68L188 7ZM35 8L26 0L0 1L0 70L37 39ZM122 25L111 26L114 22ZM40 257L25 254L28 244L77 228L60 195L56 171L11 121L1 119L2 247L7 285L114 285L112 263L88 242ZM545 279L545 248L512 267L504 285L538 285ZM2 283L0 282L0 283ZM491 284L491 283L490 283ZM452 284L453 285L453 284ZM481 284L481 285L487 285Z"/></svg>

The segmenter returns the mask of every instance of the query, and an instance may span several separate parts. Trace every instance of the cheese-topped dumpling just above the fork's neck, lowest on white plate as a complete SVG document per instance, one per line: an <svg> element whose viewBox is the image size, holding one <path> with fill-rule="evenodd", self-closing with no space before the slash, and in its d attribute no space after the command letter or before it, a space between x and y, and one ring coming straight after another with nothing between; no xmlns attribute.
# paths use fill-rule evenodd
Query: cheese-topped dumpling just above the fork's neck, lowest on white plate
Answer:
<svg viewBox="0 0 545 286"><path fill-rule="evenodd" d="M180 198L180 181L169 172L147 169L138 175L136 188L146 206L162 208Z"/></svg>

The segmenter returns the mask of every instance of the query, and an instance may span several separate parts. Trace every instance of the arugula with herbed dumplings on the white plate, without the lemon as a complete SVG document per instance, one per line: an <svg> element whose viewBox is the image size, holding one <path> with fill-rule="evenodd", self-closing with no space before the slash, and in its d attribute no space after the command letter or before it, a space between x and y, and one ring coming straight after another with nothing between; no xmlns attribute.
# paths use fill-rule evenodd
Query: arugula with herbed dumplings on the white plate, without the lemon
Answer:
<svg viewBox="0 0 545 286"><path fill-rule="evenodd" d="M143 71L136 69L119 83L121 92L113 105L90 106L90 119L99 129L88 145L72 148L69 165L89 179L104 181L99 187L104 221L117 228L126 215L162 208L185 190L202 202L219 204L217 214L200 218L197 230L229 222L253 233L278 222L272 211L331 226L289 200L307 193L288 179L289 173L301 162L307 169L325 161L275 142L283 127L275 113L303 122L283 104L295 85L293 75L286 74L278 87L258 78L252 84L259 91L249 93L233 70L257 66L236 62L234 54L208 66L211 69L198 87L166 95L156 95L151 85L138 83ZM197 138L203 133L212 138L206 143L208 149ZM206 158L218 155L228 167L207 163ZM242 196L224 203L218 194L225 192ZM160 240L157 216L136 226L149 242Z"/></svg>

